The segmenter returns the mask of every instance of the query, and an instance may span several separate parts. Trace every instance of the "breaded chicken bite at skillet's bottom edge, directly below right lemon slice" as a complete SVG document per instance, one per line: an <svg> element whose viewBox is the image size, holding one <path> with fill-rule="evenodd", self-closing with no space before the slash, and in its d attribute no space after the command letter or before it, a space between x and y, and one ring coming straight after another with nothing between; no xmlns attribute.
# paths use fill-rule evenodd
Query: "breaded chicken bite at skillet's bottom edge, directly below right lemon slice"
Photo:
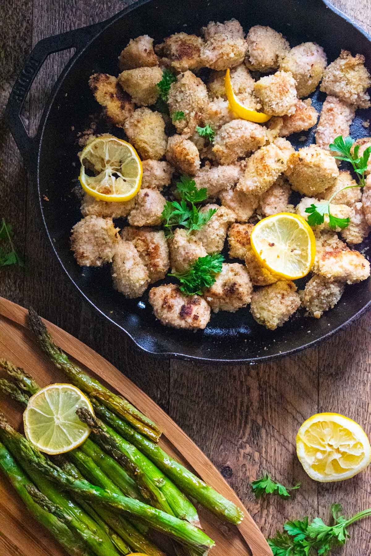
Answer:
<svg viewBox="0 0 371 556"><path fill-rule="evenodd" d="M275 330L288 321L299 306L300 297L294 282L280 280L254 291L250 311L256 322L268 330Z"/></svg>

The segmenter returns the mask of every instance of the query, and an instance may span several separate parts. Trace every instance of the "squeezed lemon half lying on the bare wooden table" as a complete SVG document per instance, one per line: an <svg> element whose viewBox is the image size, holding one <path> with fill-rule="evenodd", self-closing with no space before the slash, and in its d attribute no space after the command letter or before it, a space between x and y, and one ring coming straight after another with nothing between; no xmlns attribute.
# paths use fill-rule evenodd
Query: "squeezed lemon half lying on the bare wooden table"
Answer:
<svg viewBox="0 0 371 556"><path fill-rule="evenodd" d="M371 446L362 427L338 413L318 413L301 425L296 454L311 479L331 483L349 479L371 460Z"/></svg>

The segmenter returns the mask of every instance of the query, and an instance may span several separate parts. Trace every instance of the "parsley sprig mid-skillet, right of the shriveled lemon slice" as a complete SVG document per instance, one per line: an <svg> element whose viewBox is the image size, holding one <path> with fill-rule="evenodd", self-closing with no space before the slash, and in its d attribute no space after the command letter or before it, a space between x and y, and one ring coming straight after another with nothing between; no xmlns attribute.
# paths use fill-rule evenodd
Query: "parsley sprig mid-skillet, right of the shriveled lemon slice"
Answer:
<svg viewBox="0 0 371 556"><path fill-rule="evenodd" d="M167 201L162 211L166 237L172 236L172 227L184 226L189 233L192 230L200 230L214 216L217 209L209 209L200 212L200 207L195 203L200 203L207 199L207 187L197 189L195 180L187 175L182 175L177 182L176 188L180 193L181 201Z"/></svg>

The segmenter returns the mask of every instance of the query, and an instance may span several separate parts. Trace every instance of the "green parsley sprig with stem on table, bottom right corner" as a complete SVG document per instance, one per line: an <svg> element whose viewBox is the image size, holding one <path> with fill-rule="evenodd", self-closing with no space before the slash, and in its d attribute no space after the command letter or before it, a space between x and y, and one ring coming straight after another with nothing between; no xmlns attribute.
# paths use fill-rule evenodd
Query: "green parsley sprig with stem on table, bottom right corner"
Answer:
<svg viewBox="0 0 371 556"><path fill-rule="evenodd" d="M331 507L334 524L326 525L321 518L314 518L309 523L308 517L302 520L293 520L285 523L284 533L279 531L268 544L274 556L314 556L321 554L327 556L332 549L347 542L350 535L347 527L359 519L371 515L371 508L359 512L350 519L340 513L343 508L340 504Z"/></svg>

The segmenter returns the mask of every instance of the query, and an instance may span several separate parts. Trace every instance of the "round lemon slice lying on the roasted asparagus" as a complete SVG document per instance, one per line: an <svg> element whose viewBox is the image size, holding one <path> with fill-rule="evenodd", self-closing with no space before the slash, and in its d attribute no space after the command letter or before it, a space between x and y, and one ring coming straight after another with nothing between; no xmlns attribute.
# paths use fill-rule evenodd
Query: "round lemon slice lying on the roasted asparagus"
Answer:
<svg viewBox="0 0 371 556"><path fill-rule="evenodd" d="M26 438L46 454L64 454L80 446L90 429L76 415L77 408L94 414L87 397L71 384L50 384L34 394L23 413Z"/></svg>

